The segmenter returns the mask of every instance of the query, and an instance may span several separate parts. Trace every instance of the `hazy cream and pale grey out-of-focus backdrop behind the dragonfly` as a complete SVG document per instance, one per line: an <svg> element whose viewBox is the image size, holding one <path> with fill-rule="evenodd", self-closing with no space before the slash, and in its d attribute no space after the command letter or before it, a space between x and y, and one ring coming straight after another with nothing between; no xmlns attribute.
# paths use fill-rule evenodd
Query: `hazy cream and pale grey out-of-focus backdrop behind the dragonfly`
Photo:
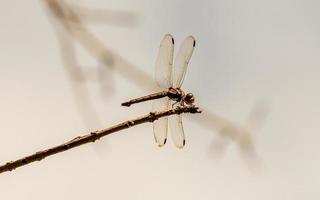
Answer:
<svg viewBox="0 0 320 200"><path fill-rule="evenodd" d="M78 38L94 35L128 61L100 56L110 66L68 35L54 2L0 1L1 163L149 112L150 103L120 103L151 91L160 40L171 33L177 45L197 39L183 88L205 111L241 125L267 102L252 133L259 167L231 140L213 156L219 130L184 116L183 150L170 138L156 147L144 124L1 174L1 198L319 199L319 1L68 1L90 31ZM149 79L117 72L126 64Z"/></svg>

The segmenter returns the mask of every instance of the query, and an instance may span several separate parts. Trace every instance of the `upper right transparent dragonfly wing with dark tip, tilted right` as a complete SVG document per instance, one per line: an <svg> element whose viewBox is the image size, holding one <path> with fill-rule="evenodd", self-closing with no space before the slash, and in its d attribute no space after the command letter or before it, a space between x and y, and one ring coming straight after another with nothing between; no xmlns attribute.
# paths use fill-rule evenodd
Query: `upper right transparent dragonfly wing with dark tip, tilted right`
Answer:
<svg viewBox="0 0 320 200"><path fill-rule="evenodd" d="M180 46L177 57L175 59L174 69L173 69L173 85L172 86L174 88L180 88L183 83L184 76L187 72L187 67L191 59L195 45L196 45L196 40L194 39L193 36L189 36L182 42Z"/></svg>

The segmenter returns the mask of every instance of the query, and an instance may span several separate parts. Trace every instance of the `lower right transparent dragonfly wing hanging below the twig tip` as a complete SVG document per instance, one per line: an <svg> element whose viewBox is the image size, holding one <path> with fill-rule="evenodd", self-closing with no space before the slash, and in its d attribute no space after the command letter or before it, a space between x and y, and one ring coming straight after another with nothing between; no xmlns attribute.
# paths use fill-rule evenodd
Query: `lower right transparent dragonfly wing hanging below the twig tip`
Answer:
<svg viewBox="0 0 320 200"><path fill-rule="evenodd" d="M184 138L182 116L172 115L170 116L169 119L170 119L169 126L170 126L172 140L178 148L183 148L186 142Z"/></svg>

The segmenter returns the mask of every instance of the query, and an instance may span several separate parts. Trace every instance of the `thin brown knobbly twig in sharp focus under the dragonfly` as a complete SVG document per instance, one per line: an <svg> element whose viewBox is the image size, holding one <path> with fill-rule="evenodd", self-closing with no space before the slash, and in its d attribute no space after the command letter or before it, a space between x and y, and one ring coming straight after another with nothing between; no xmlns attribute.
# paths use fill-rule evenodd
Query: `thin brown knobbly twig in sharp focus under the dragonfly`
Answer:
<svg viewBox="0 0 320 200"><path fill-rule="evenodd" d="M0 173L6 172L6 171L12 171L18 167L22 167L24 165L30 164L35 161L40 161L48 156L51 156L63 151L67 151L69 149L72 149L74 147L77 147L86 143L95 142L96 140L114 132L118 132L123 129L127 129L142 123L153 122L161 117L181 114L181 113L200 113L200 112L201 111L198 109L198 107L194 107L194 106L177 107L175 109L162 111L162 112L150 112L148 115L122 122L110 128L97 130L83 136L78 136L61 145L58 145L49 149L45 149L42 151L38 151L32 155L20 158L15 161L7 162L6 164L0 166Z"/></svg>

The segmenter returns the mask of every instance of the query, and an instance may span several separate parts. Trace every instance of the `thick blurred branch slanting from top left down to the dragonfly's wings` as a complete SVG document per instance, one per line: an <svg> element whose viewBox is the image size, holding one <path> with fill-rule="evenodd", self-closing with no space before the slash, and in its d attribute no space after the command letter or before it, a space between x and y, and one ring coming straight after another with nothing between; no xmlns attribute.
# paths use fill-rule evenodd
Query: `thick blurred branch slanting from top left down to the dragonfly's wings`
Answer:
<svg viewBox="0 0 320 200"><path fill-rule="evenodd" d="M81 17L69 5L61 0L45 0L45 2L54 18L58 19L60 27L77 40L99 63L108 67L113 66L115 71L141 88L153 88L155 83L152 77L105 46L89 31Z"/></svg>

